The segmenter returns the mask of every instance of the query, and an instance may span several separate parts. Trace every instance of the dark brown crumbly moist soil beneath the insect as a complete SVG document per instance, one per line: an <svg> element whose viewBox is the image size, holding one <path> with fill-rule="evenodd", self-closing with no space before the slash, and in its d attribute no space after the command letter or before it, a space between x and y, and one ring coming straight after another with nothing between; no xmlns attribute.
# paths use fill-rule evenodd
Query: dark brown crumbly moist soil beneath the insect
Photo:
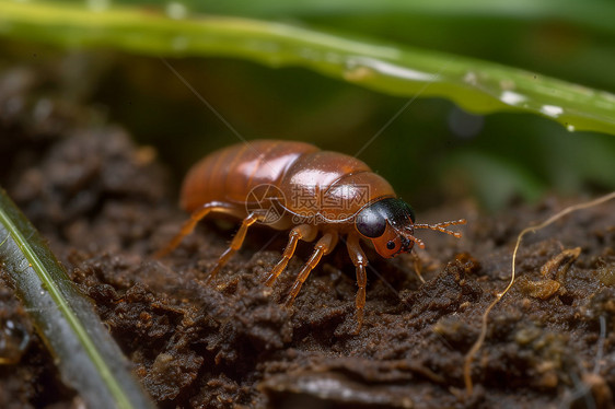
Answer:
<svg viewBox="0 0 615 409"><path fill-rule="evenodd" d="M421 232L425 283L411 257L369 253L365 319L353 335L357 285L341 248L311 274L291 309L279 302L310 245L272 290L263 284L283 233L253 230L212 287L202 280L232 225L201 223L175 252L153 259L186 218L176 204L179 180L154 149L136 145L96 110L34 92L40 81L27 69L0 78L0 184L95 301L160 407L614 406L615 203L526 236L521 278L490 315L466 396L464 355L509 280L518 233L588 198L515 204L498 215L469 202L419 213L421 221L467 218L464 237ZM0 354L12 357L0 361L0 407L77 405L2 282L0 307Z"/></svg>

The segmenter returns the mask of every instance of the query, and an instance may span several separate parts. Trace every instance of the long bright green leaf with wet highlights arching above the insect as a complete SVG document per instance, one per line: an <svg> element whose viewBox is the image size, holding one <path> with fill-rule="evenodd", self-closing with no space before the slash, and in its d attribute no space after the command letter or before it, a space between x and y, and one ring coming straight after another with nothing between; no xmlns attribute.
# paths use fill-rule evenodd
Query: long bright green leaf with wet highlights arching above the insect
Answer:
<svg viewBox="0 0 615 409"><path fill-rule="evenodd" d="M569 130L615 133L615 95L496 65L277 22L152 8L0 0L0 34L150 56L220 56L299 66L391 95L440 96L476 114L526 112Z"/></svg>

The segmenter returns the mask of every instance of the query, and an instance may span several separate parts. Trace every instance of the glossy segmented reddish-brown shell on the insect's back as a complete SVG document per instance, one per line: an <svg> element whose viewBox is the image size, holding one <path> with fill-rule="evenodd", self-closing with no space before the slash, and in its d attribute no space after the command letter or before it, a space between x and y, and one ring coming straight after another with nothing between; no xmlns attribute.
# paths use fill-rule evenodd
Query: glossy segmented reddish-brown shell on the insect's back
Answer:
<svg viewBox="0 0 615 409"><path fill-rule="evenodd" d="M292 224L314 215L312 224L350 221L365 204L395 197L391 185L356 157L304 142L258 140L224 148L195 164L184 180L181 204L194 211L224 202L243 218L250 192L259 185L281 191L281 204L288 217L294 215Z"/></svg>

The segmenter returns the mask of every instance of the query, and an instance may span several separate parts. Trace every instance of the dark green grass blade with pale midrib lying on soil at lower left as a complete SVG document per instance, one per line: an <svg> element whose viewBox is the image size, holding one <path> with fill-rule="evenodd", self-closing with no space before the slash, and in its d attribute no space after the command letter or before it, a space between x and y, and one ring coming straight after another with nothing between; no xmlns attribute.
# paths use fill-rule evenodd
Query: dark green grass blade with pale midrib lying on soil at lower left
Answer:
<svg viewBox="0 0 615 409"><path fill-rule="evenodd" d="M152 408L90 300L0 189L0 268L9 276L63 381L89 408Z"/></svg>

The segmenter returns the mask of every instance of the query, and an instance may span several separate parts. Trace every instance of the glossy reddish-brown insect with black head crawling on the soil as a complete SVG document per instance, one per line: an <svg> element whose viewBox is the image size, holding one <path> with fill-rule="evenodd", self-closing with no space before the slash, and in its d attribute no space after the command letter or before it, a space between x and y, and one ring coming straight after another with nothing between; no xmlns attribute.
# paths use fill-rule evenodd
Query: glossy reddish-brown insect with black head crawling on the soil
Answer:
<svg viewBox="0 0 615 409"><path fill-rule="evenodd" d="M360 160L322 151L313 144L258 140L213 152L196 163L184 179L181 206L192 212L176 236L160 252L172 252L206 215L228 214L242 220L230 247L220 256L207 282L216 278L231 256L241 248L246 232L255 223L276 230L290 230L281 259L266 278L272 285L292 258L299 241L312 242L322 234L290 290L291 305L324 255L339 238L345 239L356 268L358 328L365 305L368 259L361 239L371 242L378 254L391 258L423 243L415 229L430 229L455 237L461 233L446 226L465 220L437 224L415 222L414 210L397 198L391 185Z"/></svg>

